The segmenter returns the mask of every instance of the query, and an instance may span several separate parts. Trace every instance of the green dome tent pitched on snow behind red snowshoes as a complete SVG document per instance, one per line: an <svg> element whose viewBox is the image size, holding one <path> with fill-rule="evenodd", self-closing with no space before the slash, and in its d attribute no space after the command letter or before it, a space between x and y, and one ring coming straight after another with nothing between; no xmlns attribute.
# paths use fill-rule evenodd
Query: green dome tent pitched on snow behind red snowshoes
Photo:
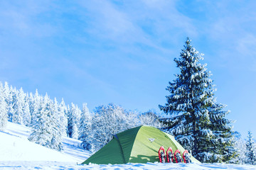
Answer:
<svg viewBox="0 0 256 170"><path fill-rule="evenodd" d="M159 162L159 148L164 146L179 149L181 154L184 148L169 135L161 130L142 125L114 135L114 138L102 149L89 157L82 164L126 164ZM192 162L198 162L191 157Z"/></svg>

